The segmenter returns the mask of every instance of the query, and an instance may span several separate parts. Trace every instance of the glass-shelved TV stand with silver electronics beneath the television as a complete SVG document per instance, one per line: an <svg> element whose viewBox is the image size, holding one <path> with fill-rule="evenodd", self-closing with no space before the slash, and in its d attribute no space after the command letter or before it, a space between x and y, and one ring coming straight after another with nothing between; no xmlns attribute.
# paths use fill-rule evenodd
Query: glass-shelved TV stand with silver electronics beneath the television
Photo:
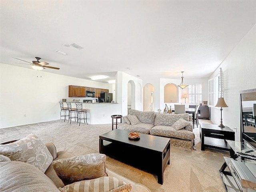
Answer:
<svg viewBox="0 0 256 192"><path fill-rule="evenodd" d="M220 168L220 175L227 192L256 191L256 160L248 159L248 153L256 155L256 150L244 142L226 140L231 148L231 157L223 157L225 162ZM225 170L228 168L229 170Z"/></svg>

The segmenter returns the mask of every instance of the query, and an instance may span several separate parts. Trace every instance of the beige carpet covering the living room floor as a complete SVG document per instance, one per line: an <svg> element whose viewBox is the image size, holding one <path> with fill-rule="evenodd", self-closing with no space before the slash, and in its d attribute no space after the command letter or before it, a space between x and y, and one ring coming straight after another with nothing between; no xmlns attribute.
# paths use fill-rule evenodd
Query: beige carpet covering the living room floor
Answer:
<svg viewBox="0 0 256 192"><path fill-rule="evenodd" d="M53 142L57 151L67 150L74 155L82 155L98 153L99 135L108 131L111 131L111 124L81 123L78 126L75 122L70 125L63 120L56 120L0 129L0 143L34 133L43 142ZM195 128L194 133L197 150L190 152L171 148L170 165L164 171L163 185L158 184L156 176L112 158L107 158L107 168L134 182L144 184L152 192L225 192L219 169L224 162L223 156L229 156L228 152L211 148L201 151L199 128Z"/></svg>

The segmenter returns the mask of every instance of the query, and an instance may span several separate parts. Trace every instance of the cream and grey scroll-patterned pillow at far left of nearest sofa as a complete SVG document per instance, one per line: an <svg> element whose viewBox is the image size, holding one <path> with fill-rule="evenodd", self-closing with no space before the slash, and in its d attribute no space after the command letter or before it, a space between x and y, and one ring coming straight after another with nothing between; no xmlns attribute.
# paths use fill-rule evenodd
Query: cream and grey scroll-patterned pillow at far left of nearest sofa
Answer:
<svg viewBox="0 0 256 192"><path fill-rule="evenodd" d="M52 155L45 144L34 134L13 143L0 145L0 154L12 161L21 161L37 167L43 173L52 163Z"/></svg>

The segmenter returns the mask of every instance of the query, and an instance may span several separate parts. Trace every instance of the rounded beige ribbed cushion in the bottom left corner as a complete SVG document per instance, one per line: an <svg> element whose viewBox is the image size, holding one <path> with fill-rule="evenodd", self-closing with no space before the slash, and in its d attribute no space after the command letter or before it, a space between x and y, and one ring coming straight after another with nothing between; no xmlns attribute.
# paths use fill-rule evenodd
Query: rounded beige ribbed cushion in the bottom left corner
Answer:
<svg viewBox="0 0 256 192"><path fill-rule="evenodd" d="M0 162L1 192L60 192L55 184L31 164Z"/></svg>

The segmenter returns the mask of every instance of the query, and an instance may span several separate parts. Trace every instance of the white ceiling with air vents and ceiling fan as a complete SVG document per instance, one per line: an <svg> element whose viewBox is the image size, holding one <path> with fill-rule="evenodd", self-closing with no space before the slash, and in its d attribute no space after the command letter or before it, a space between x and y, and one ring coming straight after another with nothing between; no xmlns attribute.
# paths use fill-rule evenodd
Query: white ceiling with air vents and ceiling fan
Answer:
<svg viewBox="0 0 256 192"><path fill-rule="evenodd" d="M116 71L206 78L255 25L256 1L1 0L0 16L4 64L37 56L60 68L46 72L102 82ZM73 42L84 48L63 45Z"/></svg>

